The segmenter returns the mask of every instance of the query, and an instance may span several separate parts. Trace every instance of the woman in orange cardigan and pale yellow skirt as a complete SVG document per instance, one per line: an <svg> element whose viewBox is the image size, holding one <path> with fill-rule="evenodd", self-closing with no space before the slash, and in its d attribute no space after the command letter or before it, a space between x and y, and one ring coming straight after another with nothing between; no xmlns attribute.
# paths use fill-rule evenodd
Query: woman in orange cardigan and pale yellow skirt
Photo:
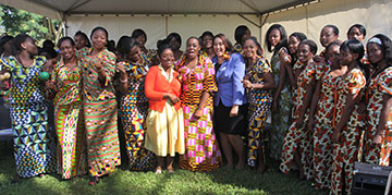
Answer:
<svg viewBox="0 0 392 195"><path fill-rule="evenodd" d="M185 153L184 115L179 99L181 83L173 70L172 49L164 44L158 48L158 56L161 63L150 68L145 81L149 103L145 148L158 156L156 173L162 172L164 158L171 173L175 153Z"/></svg>

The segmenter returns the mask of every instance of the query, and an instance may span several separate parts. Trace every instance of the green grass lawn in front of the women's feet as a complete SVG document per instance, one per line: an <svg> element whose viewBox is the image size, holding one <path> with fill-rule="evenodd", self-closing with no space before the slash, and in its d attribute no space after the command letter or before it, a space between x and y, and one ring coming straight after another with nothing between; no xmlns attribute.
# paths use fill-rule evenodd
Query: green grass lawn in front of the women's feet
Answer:
<svg viewBox="0 0 392 195"><path fill-rule="evenodd" d="M11 184L15 174L12 143L0 142L0 194L327 194L311 182L296 175L278 172L269 163L268 171L258 175L250 170L219 169L211 173L194 173L176 169L175 173L131 172L122 166L96 186L88 186L88 176L62 181L58 174L23 179Z"/></svg>

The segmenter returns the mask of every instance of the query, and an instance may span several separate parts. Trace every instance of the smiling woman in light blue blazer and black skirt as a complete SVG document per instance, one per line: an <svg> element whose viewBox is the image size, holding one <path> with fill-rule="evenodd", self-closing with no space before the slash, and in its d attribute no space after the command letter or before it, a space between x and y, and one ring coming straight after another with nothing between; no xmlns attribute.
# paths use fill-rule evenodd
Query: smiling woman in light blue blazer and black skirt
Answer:
<svg viewBox="0 0 392 195"><path fill-rule="evenodd" d="M234 52L233 47L224 35L213 38L216 57L212 59L216 68L218 93L215 97L216 130L219 132L220 143L228 161L228 168L234 166L233 149L238 157L235 169L245 166L244 142L241 134L246 130L245 88L241 83L245 76L243 57Z"/></svg>

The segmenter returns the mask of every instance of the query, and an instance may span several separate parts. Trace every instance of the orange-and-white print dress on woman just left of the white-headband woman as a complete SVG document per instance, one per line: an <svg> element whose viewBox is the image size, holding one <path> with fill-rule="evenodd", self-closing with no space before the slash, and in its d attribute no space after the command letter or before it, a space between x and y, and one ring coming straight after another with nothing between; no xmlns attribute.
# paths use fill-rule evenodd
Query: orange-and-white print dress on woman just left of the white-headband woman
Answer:
<svg viewBox="0 0 392 195"><path fill-rule="evenodd" d="M338 125L342 118L343 109L346 105L348 94L362 95L362 89L366 85L366 77L363 72L356 68L346 73L338 84L338 105L336 119ZM360 97L358 97L360 99ZM333 144L332 148L332 170L331 170L331 191L330 194L351 194L353 184L354 161L357 160L359 149L359 126L360 117L358 114L357 105L351 114L347 124L341 130L338 144ZM345 173L342 178L342 172ZM345 185L344 185L345 183ZM343 188L345 186L345 188Z"/></svg>

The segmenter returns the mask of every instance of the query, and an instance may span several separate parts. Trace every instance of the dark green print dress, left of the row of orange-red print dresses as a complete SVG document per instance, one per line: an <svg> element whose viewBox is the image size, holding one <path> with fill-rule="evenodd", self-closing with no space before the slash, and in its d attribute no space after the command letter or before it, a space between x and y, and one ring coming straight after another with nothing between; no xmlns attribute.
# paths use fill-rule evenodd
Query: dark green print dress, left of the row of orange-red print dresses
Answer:
<svg viewBox="0 0 392 195"><path fill-rule="evenodd" d="M279 84L279 72L280 72L280 61L279 54L274 54L271 59L271 69L272 75L275 82L275 85ZM273 93L275 89L273 90ZM272 159L279 160L281 159L282 146L284 142L284 137L290 129L290 124L293 122L292 120L292 109L293 109L293 95L292 89L290 87L289 77L285 80L282 92L278 99L278 110L272 114L272 129L270 131L270 157Z"/></svg>

